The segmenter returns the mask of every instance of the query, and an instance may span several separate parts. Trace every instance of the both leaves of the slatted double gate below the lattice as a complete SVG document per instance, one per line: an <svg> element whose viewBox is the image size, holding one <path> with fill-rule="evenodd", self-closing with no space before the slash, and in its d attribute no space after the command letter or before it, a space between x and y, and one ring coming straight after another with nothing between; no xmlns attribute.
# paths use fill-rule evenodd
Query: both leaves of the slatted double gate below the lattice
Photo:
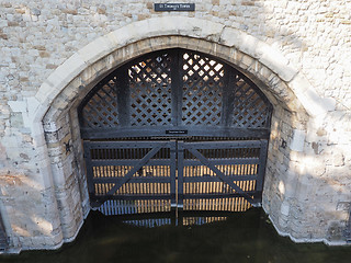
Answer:
<svg viewBox="0 0 351 263"><path fill-rule="evenodd" d="M84 141L92 206L107 215L260 205L267 140Z"/></svg>

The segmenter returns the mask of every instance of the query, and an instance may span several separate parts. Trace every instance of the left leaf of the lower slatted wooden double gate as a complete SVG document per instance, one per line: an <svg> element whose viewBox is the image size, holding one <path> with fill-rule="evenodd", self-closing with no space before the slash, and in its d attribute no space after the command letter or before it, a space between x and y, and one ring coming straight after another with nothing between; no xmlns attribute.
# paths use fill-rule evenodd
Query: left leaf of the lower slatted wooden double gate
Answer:
<svg viewBox="0 0 351 263"><path fill-rule="evenodd" d="M176 141L84 141L84 156L92 206L113 201L107 214L133 214L176 204Z"/></svg>

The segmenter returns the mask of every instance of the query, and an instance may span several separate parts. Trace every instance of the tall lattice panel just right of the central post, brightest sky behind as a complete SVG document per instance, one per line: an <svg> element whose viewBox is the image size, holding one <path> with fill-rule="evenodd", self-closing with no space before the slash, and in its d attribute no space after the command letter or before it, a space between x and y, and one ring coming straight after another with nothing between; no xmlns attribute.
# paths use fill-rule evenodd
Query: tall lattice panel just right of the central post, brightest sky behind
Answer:
<svg viewBox="0 0 351 263"><path fill-rule="evenodd" d="M182 124L219 124L224 66L199 54L184 53L182 58Z"/></svg>

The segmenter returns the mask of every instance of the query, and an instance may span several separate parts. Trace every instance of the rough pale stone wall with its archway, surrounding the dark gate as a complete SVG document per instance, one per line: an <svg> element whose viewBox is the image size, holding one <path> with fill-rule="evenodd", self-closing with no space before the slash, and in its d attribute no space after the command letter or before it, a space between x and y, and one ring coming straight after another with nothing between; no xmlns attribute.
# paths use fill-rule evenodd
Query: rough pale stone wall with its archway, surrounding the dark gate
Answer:
<svg viewBox="0 0 351 263"><path fill-rule="evenodd" d="M264 209L296 241L344 243L350 1L192 2L195 12L0 0L0 210L11 248L76 237L89 213L76 107L113 67L167 47L211 53L257 82L274 105Z"/></svg>

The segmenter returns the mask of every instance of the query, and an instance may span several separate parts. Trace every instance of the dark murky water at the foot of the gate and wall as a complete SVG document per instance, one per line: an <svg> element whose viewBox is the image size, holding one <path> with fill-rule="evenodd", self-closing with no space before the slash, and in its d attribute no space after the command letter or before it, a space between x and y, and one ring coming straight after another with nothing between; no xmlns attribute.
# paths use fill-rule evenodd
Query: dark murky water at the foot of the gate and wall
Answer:
<svg viewBox="0 0 351 263"><path fill-rule="evenodd" d="M279 237L260 209L201 226L155 228L136 227L116 217L91 213L75 242L57 251L1 255L0 262L350 263L351 247L295 244Z"/></svg>

